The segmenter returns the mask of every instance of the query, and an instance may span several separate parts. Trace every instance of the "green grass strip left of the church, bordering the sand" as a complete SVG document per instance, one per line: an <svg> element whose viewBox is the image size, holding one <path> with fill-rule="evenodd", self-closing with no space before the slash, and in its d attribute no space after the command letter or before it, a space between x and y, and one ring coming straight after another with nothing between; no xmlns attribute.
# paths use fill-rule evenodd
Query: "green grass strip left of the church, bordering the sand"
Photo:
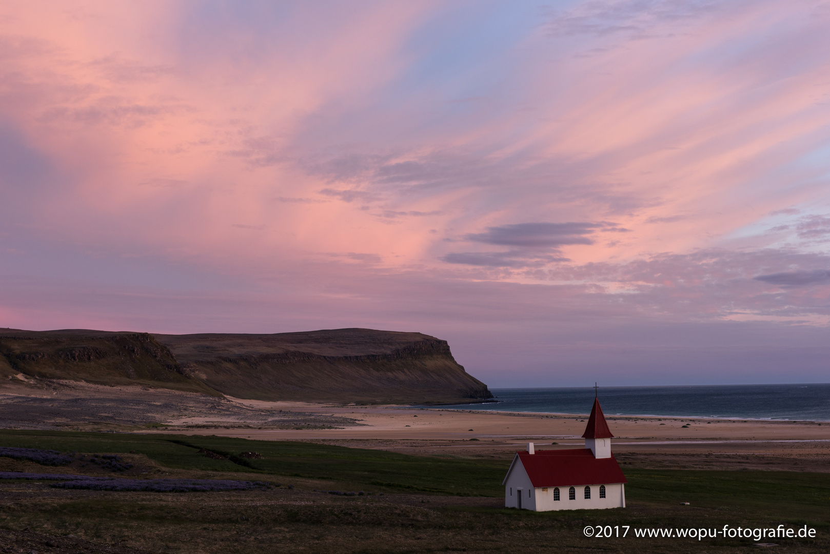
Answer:
<svg viewBox="0 0 830 554"><path fill-rule="evenodd" d="M500 496L504 462L473 462L425 458L349 449L325 444L294 443L158 434L77 433L61 431L0 431L0 444L33 449L77 450L86 453L134 451L167 468L212 472L260 473L261 478L305 478L337 481L356 486L447 493L466 496ZM199 449L237 456L256 451L264 458L240 465L205 458Z"/></svg>

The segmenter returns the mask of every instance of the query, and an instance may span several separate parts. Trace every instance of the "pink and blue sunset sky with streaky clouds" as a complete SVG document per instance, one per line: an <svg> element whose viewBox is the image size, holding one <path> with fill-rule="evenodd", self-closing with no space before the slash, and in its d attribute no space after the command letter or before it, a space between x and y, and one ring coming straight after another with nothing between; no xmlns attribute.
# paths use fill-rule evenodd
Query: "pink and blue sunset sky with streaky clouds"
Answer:
<svg viewBox="0 0 830 554"><path fill-rule="evenodd" d="M830 378L830 2L4 2L0 326Z"/></svg>

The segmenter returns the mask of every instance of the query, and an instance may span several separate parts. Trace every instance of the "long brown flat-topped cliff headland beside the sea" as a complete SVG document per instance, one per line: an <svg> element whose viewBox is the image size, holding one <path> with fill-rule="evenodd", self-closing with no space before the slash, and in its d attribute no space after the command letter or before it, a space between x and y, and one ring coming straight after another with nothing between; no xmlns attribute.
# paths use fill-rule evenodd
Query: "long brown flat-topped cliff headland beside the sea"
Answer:
<svg viewBox="0 0 830 554"><path fill-rule="evenodd" d="M255 400L446 404L491 398L447 341L334 329L272 335L0 330L0 373ZM2 366L5 365L4 369Z"/></svg>

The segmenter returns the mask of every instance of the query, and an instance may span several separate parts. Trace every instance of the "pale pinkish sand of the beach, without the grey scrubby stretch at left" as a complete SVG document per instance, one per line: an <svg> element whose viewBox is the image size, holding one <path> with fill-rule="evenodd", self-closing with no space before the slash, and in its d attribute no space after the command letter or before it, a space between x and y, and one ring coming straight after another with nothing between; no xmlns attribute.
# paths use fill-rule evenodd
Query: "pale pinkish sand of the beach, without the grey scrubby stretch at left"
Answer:
<svg viewBox="0 0 830 554"><path fill-rule="evenodd" d="M257 440L303 440L402 453L510 458L537 449L578 448L587 414L507 413L406 406L334 406L232 399L256 409L355 419L343 429L203 428L202 418L171 421L159 433L216 434ZM830 471L830 424L753 419L607 417L614 453L638 466ZM217 421L212 420L212 424ZM686 426L688 425L688 426Z"/></svg>

